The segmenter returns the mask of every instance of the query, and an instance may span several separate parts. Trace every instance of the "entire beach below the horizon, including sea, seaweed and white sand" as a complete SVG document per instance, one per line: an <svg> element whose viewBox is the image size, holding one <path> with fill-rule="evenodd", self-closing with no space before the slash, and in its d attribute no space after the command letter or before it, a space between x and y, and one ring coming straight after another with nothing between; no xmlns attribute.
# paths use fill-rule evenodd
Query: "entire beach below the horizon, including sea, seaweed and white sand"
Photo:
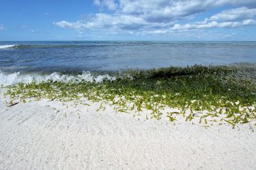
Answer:
<svg viewBox="0 0 256 170"><path fill-rule="evenodd" d="M0 169L256 169L255 42L0 44Z"/></svg>

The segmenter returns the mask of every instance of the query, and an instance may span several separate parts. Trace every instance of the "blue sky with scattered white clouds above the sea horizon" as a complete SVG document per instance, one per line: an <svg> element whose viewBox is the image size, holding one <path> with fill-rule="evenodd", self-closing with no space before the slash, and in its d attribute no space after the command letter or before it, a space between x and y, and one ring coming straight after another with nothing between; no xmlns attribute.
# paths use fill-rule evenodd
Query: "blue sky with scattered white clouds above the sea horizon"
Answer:
<svg viewBox="0 0 256 170"><path fill-rule="evenodd" d="M256 0L0 4L0 41L256 41Z"/></svg>

